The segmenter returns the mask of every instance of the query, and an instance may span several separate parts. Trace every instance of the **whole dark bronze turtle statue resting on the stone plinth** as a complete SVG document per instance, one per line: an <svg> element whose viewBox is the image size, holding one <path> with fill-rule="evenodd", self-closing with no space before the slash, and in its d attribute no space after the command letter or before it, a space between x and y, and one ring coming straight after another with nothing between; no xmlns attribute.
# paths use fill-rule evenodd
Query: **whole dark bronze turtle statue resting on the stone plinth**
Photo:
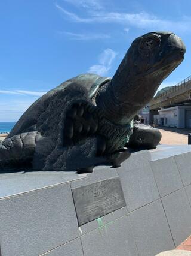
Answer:
<svg viewBox="0 0 191 256"><path fill-rule="evenodd" d="M82 74L61 83L33 103L0 144L1 168L90 171L113 164L124 146L156 147L159 130L133 119L185 51L177 35L150 32L133 41L113 78Z"/></svg>

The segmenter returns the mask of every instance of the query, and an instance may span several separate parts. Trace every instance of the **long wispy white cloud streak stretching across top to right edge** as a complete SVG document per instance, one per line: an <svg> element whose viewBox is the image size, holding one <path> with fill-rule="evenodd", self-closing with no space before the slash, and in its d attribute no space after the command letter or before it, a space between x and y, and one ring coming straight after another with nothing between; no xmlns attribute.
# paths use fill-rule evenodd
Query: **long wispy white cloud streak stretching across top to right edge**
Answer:
<svg viewBox="0 0 191 256"><path fill-rule="evenodd" d="M64 17L79 23L121 23L123 25L131 25L137 28L159 29L159 30L178 30L181 32L190 31L191 20L189 17L183 17L181 20L160 19L159 17L142 13L119 13L107 11L91 11L87 17L80 17L75 13L65 10L60 5L56 7L64 14Z"/></svg>

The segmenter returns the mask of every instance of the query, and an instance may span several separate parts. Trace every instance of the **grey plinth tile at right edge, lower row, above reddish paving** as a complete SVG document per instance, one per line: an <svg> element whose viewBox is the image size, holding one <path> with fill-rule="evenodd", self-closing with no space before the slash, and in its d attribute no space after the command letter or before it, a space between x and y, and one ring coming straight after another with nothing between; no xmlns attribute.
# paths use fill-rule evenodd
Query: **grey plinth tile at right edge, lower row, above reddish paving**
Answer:
<svg viewBox="0 0 191 256"><path fill-rule="evenodd" d="M191 207L184 189L162 198L175 246L180 245L191 233Z"/></svg>

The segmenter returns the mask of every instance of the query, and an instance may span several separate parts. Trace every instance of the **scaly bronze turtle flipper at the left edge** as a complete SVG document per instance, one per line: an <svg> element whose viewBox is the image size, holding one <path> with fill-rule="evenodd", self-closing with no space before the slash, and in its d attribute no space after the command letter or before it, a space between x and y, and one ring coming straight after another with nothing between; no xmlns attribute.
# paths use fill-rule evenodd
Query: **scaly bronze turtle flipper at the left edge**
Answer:
<svg viewBox="0 0 191 256"><path fill-rule="evenodd" d="M0 144L0 167L30 166L35 153L39 132L26 132L7 138Z"/></svg>

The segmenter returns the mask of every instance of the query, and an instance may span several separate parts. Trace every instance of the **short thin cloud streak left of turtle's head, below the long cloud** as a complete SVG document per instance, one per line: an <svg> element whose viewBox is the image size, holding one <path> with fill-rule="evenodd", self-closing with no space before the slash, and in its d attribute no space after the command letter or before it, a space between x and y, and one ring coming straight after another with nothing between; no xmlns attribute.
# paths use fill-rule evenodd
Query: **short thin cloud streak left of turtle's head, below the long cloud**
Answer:
<svg viewBox="0 0 191 256"><path fill-rule="evenodd" d="M77 34L77 33L66 32L66 31L61 31L59 33L69 35L69 37L74 40L96 40L96 39L110 38L109 34L101 34L101 33L100 34Z"/></svg>

